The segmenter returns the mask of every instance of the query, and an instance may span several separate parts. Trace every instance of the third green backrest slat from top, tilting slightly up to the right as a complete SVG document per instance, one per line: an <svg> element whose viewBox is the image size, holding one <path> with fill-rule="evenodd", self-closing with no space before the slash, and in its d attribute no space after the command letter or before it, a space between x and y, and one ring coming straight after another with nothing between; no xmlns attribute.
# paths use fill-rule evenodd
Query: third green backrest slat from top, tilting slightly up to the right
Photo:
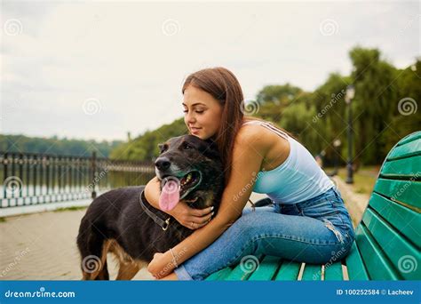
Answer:
<svg viewBox="0 0 421 304"><path fill-rule="evenodd" d="M421 156L414 156L385 162L380 172L380 178L398 177L410 180L414 179L420 172Z"/></svg>

